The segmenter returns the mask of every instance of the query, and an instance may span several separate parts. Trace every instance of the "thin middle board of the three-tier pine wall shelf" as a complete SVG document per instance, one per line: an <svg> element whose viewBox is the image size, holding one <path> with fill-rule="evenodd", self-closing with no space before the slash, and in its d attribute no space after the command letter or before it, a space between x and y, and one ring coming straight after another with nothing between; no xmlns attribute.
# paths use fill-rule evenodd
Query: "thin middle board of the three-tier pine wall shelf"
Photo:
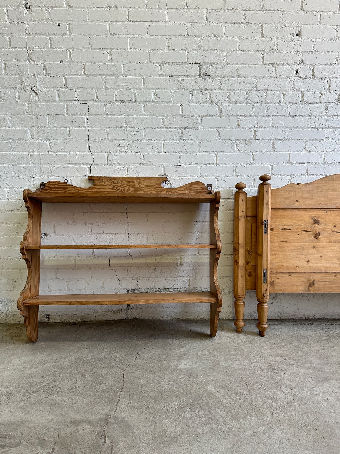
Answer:
<svg viewBox="0 0 340 454"><path fill-rule="evenodd" d="M34 249L216 249L217 244L66 244L52 246L25 245L26 251Z"/></svg>

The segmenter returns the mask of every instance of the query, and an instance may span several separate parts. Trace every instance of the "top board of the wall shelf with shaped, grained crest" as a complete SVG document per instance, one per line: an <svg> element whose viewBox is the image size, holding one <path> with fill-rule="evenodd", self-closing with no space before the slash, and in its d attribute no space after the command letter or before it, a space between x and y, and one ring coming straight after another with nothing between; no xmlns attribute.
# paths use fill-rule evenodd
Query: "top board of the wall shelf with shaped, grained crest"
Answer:
<svg viewBox="0 0 340 454"><path fill-rule="evenodd" d="M87 177L94 184L79 188L60 181L40 183L36 191L24 189L27 197L41 202L97 203L210 203L219 192L195 181L179 188L164 188L166 177Z"/></svg>

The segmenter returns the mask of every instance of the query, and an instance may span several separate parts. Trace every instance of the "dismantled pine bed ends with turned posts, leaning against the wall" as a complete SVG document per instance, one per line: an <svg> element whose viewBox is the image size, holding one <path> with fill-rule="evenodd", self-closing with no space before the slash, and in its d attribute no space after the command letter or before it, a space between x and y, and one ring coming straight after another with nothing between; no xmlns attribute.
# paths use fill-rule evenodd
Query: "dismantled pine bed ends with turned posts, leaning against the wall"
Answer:
<svg viewBox="0 0 340 454"><path fill-rule="evenodd" d="M256 290L257 328L265 336L270 293L340 293L340 174L257 196L238 183L234 199L234 325L244 326L244 297Z"/></svg>

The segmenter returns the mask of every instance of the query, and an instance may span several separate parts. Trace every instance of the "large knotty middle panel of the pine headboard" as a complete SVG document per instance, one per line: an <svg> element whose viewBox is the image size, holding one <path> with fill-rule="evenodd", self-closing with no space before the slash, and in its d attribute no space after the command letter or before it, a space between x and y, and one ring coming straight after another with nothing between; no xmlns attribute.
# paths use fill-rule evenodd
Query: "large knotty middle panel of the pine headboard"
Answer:
<svg viewBox="0 0 340 454"><path fill-rule="evenodd" d="M339 272L339 242L340 210L271 210L271 272Z"/></svg>

